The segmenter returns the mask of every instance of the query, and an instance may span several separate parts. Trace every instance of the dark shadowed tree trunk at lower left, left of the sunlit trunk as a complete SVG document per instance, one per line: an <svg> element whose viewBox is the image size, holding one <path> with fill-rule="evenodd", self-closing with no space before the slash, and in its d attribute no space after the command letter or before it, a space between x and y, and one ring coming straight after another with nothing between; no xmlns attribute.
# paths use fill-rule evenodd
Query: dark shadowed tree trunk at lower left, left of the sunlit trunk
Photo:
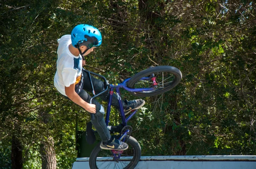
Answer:
<svg viewBox="0 0 256 169"><path fill-rule="evenodd" d="M23 159L22 159L22 145L19 139L13 135L12 136L12 169L22 169Z"/></svg>

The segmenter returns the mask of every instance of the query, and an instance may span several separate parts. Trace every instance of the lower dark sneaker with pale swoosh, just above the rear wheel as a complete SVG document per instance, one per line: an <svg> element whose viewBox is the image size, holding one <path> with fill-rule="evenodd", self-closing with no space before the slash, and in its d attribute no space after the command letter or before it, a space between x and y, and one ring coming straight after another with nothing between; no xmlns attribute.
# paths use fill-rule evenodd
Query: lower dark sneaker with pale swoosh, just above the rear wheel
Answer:
<svg viewBox="0 0 256 169"><path fill-rule="evenodd" d="M114 150L117 150L117 151L123 151L123 150L126 150L128 149L128 144L116 139L116 138L113 138L113 140L108 143L108 144L103 144L103 142L101 142L100 144L100 148L102 149L114 149Z"/></svg>

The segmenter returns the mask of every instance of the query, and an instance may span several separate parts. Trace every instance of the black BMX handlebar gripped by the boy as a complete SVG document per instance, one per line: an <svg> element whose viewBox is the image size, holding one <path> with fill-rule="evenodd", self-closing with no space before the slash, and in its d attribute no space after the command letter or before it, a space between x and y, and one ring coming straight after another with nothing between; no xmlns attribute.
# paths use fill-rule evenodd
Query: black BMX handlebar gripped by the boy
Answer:
<svg viewBox="0 0 256 169"><path fill-rule="evenodd" d="M107 80L104 76L102 76L102 75L99 75L99 74L97 74L97 73L90 72L90 71L88 71L88 70L85 70L84 68L82 68L82 70L85 71L85 72L87 72L88 75L89 75L90 84L91 84L91 87L92 87L92 90L93 90L93 97L90 99L90 104L92 104L92 100L93 100L94 98L98 97L99 95L101 95L102 93L105 93L105 92L108 90L108 88L109 88L109 83L108 83L108 80ZM100 93L98 93L98 94L95 94L94 88L93 88L93 82L92 82L92 79L91 79L91 76L90 76L91 74L94 75L94 76L98 76L98 77L100 77L100 78L102 78L102 79L104 80L105 85L107 86L107 87L105 88L105 90L103 90L102 92L100 92ZM94 113L90 113L90 116L91 116L91 120L94 120L94 119L95 119Z"/></svg>

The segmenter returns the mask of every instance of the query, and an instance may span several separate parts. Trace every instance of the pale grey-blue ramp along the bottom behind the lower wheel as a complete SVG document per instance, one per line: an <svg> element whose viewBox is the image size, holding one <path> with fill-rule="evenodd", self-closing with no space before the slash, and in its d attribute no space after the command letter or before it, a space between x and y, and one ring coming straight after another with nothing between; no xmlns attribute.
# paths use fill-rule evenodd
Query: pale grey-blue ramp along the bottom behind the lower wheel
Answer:
<svg viewBox="0 0 256 169"><path fill-rule="evenodd" d="M126 157L129 158L129 157ZM108 158L102 168L108 166ZM108 166L114 168L114 166ZM89 158L77 158L72 169L90 169ZM143 156L135 169L256 169L255 155Z"/></svg>

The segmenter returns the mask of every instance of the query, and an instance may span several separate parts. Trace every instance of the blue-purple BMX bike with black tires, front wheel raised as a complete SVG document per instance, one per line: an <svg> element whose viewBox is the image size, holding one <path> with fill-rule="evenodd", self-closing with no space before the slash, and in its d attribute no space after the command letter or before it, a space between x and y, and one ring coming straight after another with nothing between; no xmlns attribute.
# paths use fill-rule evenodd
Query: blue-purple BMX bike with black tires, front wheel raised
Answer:
<svg viewBox="0 0 256 169"><path fill-rule="evenodd" d="M104 92L107 92L110 89L110 97L108 100L108 107L105 117L106 125L108 126L110 110L111 110L111 101L113 97L113 90L116 89L116 95L119 101L120 115L122 118L122 123L118 125L119 127L119 135L116 135L115 138L125 142L128 144L129 148L125 151L116 151L116 150L105 150L100 148L100 143L97 144L92 150L89 158L89 165L91 169L106 169L106 168L124 168L124 169L133 169L137 166L137 163L140 161L141 156L141 148L138 141L131 136L132 127L127 125L127 122L137 113L137 110L131 112L127 118L125 118L125 113L122 108L120 88L124 88L128 92L130 92L134 96L140 97L148 97L148 96L156 96L161 93L165 93L175 86L177 86L182 78L182 73L179 69L172 66L157 66L145 69L133 77L129 79L125 79L122 83L112 85L109 84L106 78L97 73L90 72L88 70L84 70L89 74L89 79L91 86L92 81L90 74L94 76L99 76L104 79L105 90L101 93L95 95L93 90L93 97L90 99L90 103L92 99L101 95ZM94 118L94 114L90 114L91 119ZM120 126L122 126L122 130L120 130ZM118 129L118 127L116 129ZM91 126L87 127L87 132L92 133ZM110 131L113 133L113 131ZM94 133L94 132L93 132ZM91 136L93 141L95 141L95 135ZM105 157L104 161L99 161L100 157ZM97 158L98 161L97 161ZM106 163L108 161L108 163Z"/></svg>

